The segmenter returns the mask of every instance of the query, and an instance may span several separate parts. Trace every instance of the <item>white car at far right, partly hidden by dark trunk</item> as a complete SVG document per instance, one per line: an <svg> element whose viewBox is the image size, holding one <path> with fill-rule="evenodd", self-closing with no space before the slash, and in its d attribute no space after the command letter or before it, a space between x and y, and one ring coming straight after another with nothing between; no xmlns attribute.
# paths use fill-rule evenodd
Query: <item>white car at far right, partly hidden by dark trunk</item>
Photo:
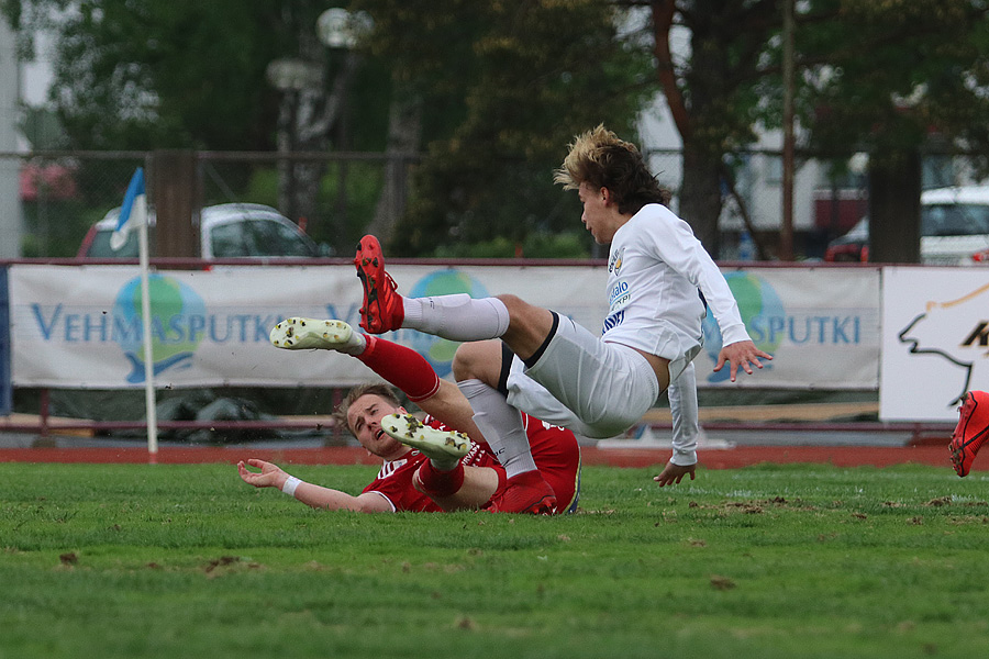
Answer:
<svg viewBox="0 0 989 659"><path fill-rule="evenodd" d="M921 193L921 263L989 265L989 186L938 188ZM867 261L869 220L827 245L824 260Z"/></svg>

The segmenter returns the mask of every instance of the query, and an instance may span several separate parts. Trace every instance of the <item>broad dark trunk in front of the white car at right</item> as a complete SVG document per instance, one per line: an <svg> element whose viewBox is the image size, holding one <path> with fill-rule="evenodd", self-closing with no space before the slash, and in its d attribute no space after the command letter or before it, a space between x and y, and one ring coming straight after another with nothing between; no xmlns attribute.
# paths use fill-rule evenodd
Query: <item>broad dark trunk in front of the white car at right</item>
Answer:
<svg viewBox="0 0 989 659"><path fill-rule="evenodd" d="M920 263L921 157L916 150L869 158L869 260Z"/></svg>

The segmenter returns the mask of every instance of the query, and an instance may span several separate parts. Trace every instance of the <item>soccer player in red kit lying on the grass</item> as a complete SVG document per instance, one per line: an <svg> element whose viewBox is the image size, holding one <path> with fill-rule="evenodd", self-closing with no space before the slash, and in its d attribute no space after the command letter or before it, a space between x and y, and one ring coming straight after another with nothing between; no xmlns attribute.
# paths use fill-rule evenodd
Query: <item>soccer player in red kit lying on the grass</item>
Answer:
<svg viewBox="0 0 989 659"><path fill-rule="evenodd" d="M357 387L336 416L345 421L362 446L384 460L378 477L359 495L302 482L277 466L256 459L237 466L245 482L258 488L276 487L308 505L330 510L502 510L499 504L505 489L504 469L474 425L467 400L456 386L441 380L421 355L380 337L356 333L342 321L289 319L271 331L271 342L287 349L349 354L402 390L430 416L420 424L384 384ZM570 431L531 416L525 417L525 427L533 458L557 493L556 512L573 512L580 476L576 437ZM460 432L459 439L449 439L446 431L451 429Z"/></svg>

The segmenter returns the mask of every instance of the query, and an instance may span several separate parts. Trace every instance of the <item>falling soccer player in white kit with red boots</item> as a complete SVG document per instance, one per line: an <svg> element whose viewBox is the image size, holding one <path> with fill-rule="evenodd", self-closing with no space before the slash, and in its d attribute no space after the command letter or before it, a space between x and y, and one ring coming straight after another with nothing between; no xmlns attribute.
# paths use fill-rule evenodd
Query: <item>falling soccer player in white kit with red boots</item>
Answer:
<svg viewBox="0 0 989 659"><path fill-rule="evenodd" d="M715 371L727 364L734 382L738 369L751 375L760 359L773 359L753 344L727 282L690 226L666 208L668 192L633 144L604 126L578 135L554 180L578 191L585 226L597 243L611 244L600 337L515 295L404 298L374 236L362 238L355 258L368 332L408 327L482 342L460 346L454 375L505 468L505 498L518 512L548 513L556 504L532 460L520 410L587 437L612 437L669 390L674 451L655 480L679 483L697 465L692 360L703 345L705 306L723 338ZM490 338L514 356L503 358L497 342L484 340Z"/></svg>

